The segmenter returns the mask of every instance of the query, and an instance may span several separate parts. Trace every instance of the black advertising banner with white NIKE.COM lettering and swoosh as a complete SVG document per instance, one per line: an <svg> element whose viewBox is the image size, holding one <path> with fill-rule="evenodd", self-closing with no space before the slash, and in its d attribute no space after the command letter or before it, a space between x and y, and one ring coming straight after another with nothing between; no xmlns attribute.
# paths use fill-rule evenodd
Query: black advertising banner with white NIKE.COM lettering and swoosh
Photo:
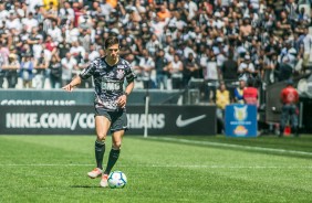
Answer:
<svg viewBox="0 0 312 203"><path fill-rule="evenodd" d="M216 135L216 106L128 106L127 135ZM0 106L0 135L94 135L93 106Z"/></svg>

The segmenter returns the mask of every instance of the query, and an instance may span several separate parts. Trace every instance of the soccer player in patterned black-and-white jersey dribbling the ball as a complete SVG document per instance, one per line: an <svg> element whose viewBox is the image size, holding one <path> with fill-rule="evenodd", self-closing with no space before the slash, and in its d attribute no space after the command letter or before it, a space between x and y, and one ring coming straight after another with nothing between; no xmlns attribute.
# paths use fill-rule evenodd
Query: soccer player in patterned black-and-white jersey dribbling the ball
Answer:
<svg viewBox="0 0 312 203"><path fill-rule="evenodd" d="M65 85L63 89L72 92L82 79L94 77L95 86L95 160L96 168L87 173L91 179L102 177L100 185L107 186L108 174L116 163L122 146L122 138L127 129L126 101L127 96L134 88L135 74L129 63L118 56L119 42L116 36L108 36L105 40L105 53L91 62L77 77ZM127 85L124 87L124 81ZM105 139L111 129L113 145L110 152L106 169L103 170L103 157L105 152Z"/></svg>

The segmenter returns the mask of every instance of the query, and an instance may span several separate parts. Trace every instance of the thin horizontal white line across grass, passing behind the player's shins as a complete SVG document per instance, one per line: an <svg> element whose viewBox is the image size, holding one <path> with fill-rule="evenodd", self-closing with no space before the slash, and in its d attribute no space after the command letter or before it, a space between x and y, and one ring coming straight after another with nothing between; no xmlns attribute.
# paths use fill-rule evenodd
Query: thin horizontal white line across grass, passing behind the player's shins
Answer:
<svg viewBox="0 0 312 203"><path fill-rule="evenodd" d="M6 167L94 167L87 163L2 163L0 168ZM131 164L126 168L189 168L189 169L312 169L312 165L215 165L215 164Z"/></svg>

